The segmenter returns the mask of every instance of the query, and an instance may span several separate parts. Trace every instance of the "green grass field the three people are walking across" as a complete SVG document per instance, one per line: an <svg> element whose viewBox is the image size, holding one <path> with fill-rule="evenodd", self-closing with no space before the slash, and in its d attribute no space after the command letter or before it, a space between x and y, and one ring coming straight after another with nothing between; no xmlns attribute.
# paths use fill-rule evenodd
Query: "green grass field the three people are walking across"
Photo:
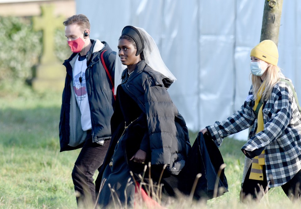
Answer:
<svg viewBox="0 0 301 209"><path fill-rule="evenodd" d="M61 93L0 98L0 208L76 208L71 171L79 150L59 152ZM196 133L191 133L194 139ZM192 140L193 141L193 140ZM239 203L244 155L243 141L225 139L220 151L227 164L229 192L209 200L207 208L245 208ZM96 174L97 175L97 174ZM201 208L182 197L168 208ZM247 207L300 207L281 188L273 188L260 203Z"/></svg>

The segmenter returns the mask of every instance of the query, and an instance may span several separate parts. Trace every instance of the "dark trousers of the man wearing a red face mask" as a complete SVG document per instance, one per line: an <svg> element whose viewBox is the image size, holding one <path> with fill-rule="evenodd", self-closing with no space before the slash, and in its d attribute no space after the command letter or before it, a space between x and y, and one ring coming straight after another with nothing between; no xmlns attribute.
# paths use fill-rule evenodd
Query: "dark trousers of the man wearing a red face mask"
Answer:
<svg viewBox="0 0 301 209"><path fill-rule="evenodd" d="M103 164L109 143L110 140L105 141L103 145L93 143L91 134L88 135L72 171L77 206L95 204L93 175Z"/></svg>

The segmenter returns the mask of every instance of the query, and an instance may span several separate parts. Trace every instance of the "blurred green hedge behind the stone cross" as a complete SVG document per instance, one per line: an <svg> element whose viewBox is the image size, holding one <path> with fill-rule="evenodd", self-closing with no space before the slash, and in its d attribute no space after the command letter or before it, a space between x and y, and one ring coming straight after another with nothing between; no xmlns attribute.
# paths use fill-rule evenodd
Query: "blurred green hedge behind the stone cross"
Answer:
<svg viewBox="0 0 301 209"><path fill-rule="evenodd" d="M1 16L0 31L0 89L24 85L39 64L42 31L33 30L31 18ZM63 62L71 54L64 30L56 30L54 38L55 53Z"/></svg>

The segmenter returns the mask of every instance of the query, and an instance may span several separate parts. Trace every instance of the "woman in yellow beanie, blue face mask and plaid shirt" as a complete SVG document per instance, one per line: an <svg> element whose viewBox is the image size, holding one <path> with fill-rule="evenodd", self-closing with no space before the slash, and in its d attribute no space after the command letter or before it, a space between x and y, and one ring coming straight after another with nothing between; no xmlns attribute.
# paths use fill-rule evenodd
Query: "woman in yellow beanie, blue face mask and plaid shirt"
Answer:
<svg viewBox="0 0 301 209"><path fill-rule="evenodd" d="M266 188L281 186L291 199L301 194L301 115L291 80L277 67L278 50L264 40L251 50L252 85L241 109L201 131L219 147L224 137L252 127L241 148L253 159L240 200L261 199ZM260 185L260 186L259 186ZM261 190L261 186L263 190ZM257 194L256 194L257 193Z"/></svg>

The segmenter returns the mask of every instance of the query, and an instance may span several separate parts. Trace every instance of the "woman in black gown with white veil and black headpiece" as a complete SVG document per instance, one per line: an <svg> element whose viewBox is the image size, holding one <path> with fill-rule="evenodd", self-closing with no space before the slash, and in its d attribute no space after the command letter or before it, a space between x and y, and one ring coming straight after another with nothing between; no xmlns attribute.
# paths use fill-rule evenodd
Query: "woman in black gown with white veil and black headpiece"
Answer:
<svg viewBox="0 0 301 209"><path fill-rule="evenodd" d="M174 195L174 179L191 149L186 123L167 92L175 77L162 61L154 40L144 29L126 26L118 49L117 61L127 68L122 72L116 64L115 86L121 83L111 119L112 139L98 176L102 179L101 207L113 204L113 200L133 207L135 181L141 183L139 174L143 175L149 162L153 182L158 182L164 169L162 192ZM148 182L147 174L148 170L144 182Z"/></svg>

